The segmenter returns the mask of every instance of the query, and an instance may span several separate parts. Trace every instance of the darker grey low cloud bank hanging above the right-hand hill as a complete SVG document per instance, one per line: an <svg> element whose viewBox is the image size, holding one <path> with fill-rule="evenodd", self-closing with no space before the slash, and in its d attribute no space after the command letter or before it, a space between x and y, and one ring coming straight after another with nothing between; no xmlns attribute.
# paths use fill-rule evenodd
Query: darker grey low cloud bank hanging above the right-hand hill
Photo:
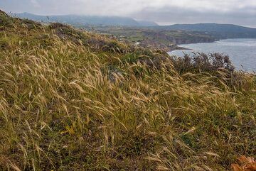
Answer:
<svg viewBox="0 0 256 171"><path fill-rule="evenodd" d="M133 14L138 19L151 18L161 25L174 23L233 23L256 27L256 7L244 7L234 11L184 9L166 6L161 9L148 8Z"/></svg>

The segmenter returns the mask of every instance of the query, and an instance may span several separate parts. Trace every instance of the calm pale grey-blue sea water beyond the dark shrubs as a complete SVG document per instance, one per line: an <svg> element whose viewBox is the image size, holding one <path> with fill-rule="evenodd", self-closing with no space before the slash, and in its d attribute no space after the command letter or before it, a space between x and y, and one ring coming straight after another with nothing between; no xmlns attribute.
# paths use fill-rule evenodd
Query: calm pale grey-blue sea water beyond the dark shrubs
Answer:
<svg viewBox="0 0 256 171"><path fill-rule="evenodd" d="M191 50L174 50L169 55L183 57L191 52L198 53L224 53L230 56L230 60L237 70L256 72L256 38L255 39L227 39L215 43L195 43L179 45Z"/></svg>

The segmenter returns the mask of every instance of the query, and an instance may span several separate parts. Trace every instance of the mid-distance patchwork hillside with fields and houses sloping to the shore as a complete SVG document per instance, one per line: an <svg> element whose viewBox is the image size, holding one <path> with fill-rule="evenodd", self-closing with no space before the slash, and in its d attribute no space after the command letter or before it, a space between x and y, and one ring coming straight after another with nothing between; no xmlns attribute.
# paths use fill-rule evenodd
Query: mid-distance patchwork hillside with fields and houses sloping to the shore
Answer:
<svg viewBox="0 0 256 171"><path fill-rule="evenodd" d="M84 27L87 31L115 35L119 40L127 43L140 43L146 48L160 48L166 50L179 49L177 45L187 43L208 43L218 40L206 33L196 31L159 31L150 28L132 27Z"/></svg>

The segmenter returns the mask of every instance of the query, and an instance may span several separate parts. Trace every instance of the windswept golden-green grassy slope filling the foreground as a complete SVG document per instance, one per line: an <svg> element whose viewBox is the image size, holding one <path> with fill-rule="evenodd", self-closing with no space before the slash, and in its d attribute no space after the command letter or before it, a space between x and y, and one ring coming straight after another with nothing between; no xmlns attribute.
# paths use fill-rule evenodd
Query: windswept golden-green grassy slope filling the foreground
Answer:
<svg viewBox="0 0 256 171"><path fill-rule="evenodd" d="M161 53L0 15L0 170L230 170L255 157L255 75L231 87Z"/></svg>

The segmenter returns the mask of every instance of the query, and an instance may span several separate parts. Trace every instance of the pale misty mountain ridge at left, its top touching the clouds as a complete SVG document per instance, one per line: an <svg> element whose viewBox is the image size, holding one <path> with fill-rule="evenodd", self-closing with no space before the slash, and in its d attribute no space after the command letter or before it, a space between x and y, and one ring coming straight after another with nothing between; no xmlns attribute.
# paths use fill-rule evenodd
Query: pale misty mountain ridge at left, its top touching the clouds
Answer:
<svg viewBox="0 0 256 171"><path fill-rule="evenodd" d="M63 15L63 16L40 16L33 13L15 13L18 18L28 18L34 21L68 23L74 26L158 26L151 21L136 21L133 18L118 16L82 16L82 15Z"/></svg>

